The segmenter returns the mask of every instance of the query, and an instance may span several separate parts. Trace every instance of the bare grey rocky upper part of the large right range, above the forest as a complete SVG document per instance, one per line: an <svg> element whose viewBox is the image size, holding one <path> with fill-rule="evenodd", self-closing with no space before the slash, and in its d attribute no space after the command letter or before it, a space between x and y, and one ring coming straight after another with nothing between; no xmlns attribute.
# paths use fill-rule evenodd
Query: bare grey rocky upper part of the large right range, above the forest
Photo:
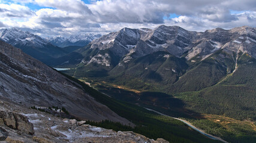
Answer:
<svg viewBox="0 0 256 143"><path fill-rule="evenodd" d="M190 32L181 27L164 25L155 29L124 28L95 39L85 48L58 58L56 60L58 63L53 62L53 65L65 66L65 63L68 63L77 65L77 71L92 67L110 74L109 71L115 69L129 69L133 65L132 61L156 52L162 53L159 56L164 61L173 57L179 61L184 58L184 62L197 63L220 51L230 55L230 60L236 64L236 58L233 57L237 57L238 53L247 53L251 57L256 57L255 35L255 28L248 26L231 30L217 28L205 32ZM224 66L227 72L232 72L235 68L234 65ZM144 67L144 69L148 68ZM174 74L183 74L179 72L182 69L170 70L173 70ZM79 75L81 72L76 73L76 76L81 76ZM176 79L174 81L176 82Z"/></svg>

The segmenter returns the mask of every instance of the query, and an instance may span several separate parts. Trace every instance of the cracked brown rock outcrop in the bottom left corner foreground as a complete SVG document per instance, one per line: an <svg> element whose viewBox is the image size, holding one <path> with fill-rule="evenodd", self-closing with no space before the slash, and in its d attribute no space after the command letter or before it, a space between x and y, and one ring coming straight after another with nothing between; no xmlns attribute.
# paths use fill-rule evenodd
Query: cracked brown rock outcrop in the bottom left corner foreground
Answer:
<svg viewBox="0 0 256 143"><path fill-rule="evenodd" d="M35 133L33 124L21 114L0 111L0 119L4 121L4 125L11 129L17 129L29 135L33 135Z"/></svg>

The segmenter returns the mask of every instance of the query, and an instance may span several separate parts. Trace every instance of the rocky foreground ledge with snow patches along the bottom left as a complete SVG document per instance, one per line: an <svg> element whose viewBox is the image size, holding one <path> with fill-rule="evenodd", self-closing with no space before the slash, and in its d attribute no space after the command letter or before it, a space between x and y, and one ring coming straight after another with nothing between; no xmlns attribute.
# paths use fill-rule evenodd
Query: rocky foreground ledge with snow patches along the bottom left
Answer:
<svg viewBox="0 0 256 143"><path fill-rule="evenodd" d="M0 142L52 143L52 142L152 142L165 143L164 139L149 139L134 132L115 132L62 119L52 114L0 101Z"/></svg>

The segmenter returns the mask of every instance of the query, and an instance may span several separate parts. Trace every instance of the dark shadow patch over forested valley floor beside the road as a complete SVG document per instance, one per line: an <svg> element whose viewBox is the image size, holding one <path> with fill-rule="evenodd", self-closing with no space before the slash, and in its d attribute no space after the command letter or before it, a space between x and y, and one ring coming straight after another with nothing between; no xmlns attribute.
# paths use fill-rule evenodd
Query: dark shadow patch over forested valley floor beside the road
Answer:
<svg viewBox="0 0 256 143"><path fill-rule="evenodd" d="M150 108L169 116L203 119L200 113L188 110L185 102L163 92L129 91L129 89L122 89L121 87L115 88L103 85L98 85L97 89L117 100L131 102L132 104Z"/></svg>

